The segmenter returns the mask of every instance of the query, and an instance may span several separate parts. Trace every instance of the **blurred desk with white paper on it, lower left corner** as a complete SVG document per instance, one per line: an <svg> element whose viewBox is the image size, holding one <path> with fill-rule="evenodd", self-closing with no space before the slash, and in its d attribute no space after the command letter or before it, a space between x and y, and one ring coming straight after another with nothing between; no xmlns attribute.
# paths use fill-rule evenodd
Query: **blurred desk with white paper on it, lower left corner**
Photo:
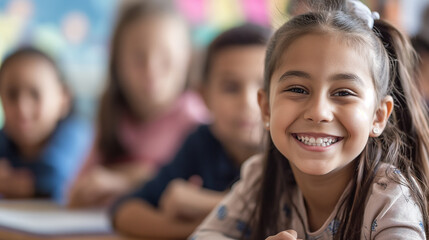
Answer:
<svg viewBox="0 0 429 240"><path fill-rule="evenodd" d="M67 209L46 200L0 200L0 239L135 240L114 233L106 209Z"/></svg>

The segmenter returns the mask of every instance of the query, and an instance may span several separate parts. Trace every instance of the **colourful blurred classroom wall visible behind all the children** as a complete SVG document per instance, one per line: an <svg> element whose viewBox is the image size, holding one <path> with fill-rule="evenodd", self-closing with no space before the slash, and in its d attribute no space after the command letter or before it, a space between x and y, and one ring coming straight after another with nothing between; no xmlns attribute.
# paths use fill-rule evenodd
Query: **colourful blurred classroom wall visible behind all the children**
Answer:
<svg viewBox="0 0 429 240"><path fill-rule="evenodd" d="M128 1L128 0L122 0ZM289 0L174 0L191 25L193 46L203 49L220 31L243 21L273 26L287 17ZM373 8L384 2L402 7L407 29L417 29L410 14L429 0L367 0ZM0 0L0 63L16 46L32 44L51 53L65 72L76 96L78 113L94 116L103 89L109 36L120 0ZM404 5L405 4L405 5ZM392 8L393 6L393 8ZM403 7L407 6L407 7ZM416 7L417 6L417 7ZM392 13L389 10L388 14ZM401 20L402 19L402 20ZM0 111L0 125L2 122Z"/></svg>

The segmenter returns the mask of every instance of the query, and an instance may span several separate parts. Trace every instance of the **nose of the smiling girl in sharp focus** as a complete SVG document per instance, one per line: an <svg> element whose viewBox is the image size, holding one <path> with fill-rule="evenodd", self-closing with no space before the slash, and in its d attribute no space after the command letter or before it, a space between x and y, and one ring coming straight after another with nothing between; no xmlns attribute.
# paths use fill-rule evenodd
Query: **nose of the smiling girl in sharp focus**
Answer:
<svg viewBox="0 0 429 240"><path fill-rule="evenodd" d="M331 122L334 118L332 113L332 105L327 97L312 96L311 101L308 102L304 119L313 121L315 123Z"/></svg>

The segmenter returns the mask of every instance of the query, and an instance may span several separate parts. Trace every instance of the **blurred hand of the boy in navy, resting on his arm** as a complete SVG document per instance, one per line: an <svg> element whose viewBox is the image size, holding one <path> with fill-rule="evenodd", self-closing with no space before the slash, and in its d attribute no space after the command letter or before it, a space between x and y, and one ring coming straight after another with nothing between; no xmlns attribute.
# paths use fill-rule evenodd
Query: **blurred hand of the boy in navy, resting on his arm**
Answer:
<svg viewBox="0 0 429 240"><path fill-rule="evenodd" d="M193 176L188 181L174 179L168 184L160 199L160 209L168 218L195 220L205 216L198 210L202 180Z"/></svg>

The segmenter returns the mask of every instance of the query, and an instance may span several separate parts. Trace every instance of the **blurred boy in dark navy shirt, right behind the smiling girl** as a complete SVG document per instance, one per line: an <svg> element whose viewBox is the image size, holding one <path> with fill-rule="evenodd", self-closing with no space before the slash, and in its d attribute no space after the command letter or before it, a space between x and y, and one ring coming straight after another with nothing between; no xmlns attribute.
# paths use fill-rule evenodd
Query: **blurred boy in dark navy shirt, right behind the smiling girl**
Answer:
<svg viewBox="0 0 429 240"><path fill-rule="evenodd" d="M192 133L153 180L115 204L112 221L117 230L186 238L238 179L240 165L261 150L256 97L269 35L269 30L247 24L212 42L202 94L213 122Z"/></svg>

